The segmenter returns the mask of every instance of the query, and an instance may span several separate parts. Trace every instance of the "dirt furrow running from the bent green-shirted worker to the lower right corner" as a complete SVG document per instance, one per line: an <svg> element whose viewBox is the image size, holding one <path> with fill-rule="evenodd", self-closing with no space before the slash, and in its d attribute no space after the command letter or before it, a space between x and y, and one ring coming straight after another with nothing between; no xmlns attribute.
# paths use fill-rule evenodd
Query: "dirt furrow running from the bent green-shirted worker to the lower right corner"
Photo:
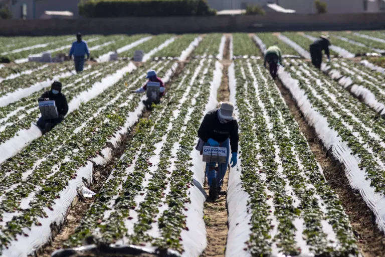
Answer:
<svg viewBox="0 0 385 257"><path fill-rule="evenodd" d="M349 186L344 167L332 157L326 157L326 152L320 141L318 141L313 127L306 123L290 92L283 87L281 82L277 81L277 85L299 124L301 132L305 135L311 151L321 165L328 184L341 200L342 206L349 216L354 234L358 239L357 244L362 255L364 257L385 256L385 238L374 224L374 215L366 206L362 197Z"/></svg>

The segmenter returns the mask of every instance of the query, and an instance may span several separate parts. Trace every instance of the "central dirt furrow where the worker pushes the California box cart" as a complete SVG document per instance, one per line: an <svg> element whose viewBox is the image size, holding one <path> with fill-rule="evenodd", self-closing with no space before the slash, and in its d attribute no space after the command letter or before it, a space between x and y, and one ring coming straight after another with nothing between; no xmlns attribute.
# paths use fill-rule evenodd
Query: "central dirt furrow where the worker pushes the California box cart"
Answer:
<svg viewBox="0 0 385 257"><path fill-rule="evenodd" d="M227 75L227 70L229 65L231 64L231 60L229 60L230 56L230 35L226 34L226 44L224 50L224 57L221 61L223 65L223 77L221 86L218 89L218 101L228 101L230 96L229 91L229 78ZM227 183L229 179L229 169L226 172L221 195L219 199L215 202L211 201L209 198L206 200L204 206L204 220L206 224L207 231L207 247L206 250L201 255L202 257L207 256L215 256L215 257L223 257L225 256L226 249L226 241L227 241L227 233L228 233L228 212L226 206L226 191L227 191ZM209 186L206 182L205 191L207 195L209 195Z"/></svg>

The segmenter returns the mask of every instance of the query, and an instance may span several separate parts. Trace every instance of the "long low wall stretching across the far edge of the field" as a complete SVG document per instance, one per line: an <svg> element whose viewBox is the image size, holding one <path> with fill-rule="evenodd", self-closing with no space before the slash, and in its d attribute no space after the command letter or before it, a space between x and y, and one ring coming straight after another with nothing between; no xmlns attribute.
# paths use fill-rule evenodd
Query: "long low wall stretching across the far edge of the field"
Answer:
<svg viewBox="0 0 385 257"><path fill-rule="evenodd" d="M4 20L0 35L208 33L385 29L385 15L131 17L122 19Z"/></svg>

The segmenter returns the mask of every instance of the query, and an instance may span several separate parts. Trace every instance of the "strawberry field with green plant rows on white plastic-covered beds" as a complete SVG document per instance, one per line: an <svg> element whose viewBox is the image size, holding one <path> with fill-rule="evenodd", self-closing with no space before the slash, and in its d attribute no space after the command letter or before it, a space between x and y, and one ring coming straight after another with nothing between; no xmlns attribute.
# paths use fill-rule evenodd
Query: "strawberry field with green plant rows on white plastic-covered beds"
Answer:
<svg viewBox="0 0 385 257"><path fill-rule="evenodd" d="M68 54L71 36L0 37L0 255L385 256L385 69L364 57L385 53L385 32L327 34L321 70L319 32L88 35L81 73L28 62ZM274 44L277 80L263 66ZM147 109L133 90L149 69L166 94ZM69 112L42 134L53 80ZM195 145L221 101L238 164L210 201Z"/></svg>

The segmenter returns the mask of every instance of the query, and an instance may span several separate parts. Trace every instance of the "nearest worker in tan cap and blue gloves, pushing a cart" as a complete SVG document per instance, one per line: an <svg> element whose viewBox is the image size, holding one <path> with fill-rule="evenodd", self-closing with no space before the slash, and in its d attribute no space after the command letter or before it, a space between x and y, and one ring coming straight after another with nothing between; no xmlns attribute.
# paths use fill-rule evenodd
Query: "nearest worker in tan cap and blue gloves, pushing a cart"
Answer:
<svg viewBox="0 0 385 257"><path fill-rule="evenodd" d="M231 146L231 167L237 165L238 155L238 121L234 114L234 105L231 102L223 102L219 109L209 111L198 130L198 137L203 140L205 146L225 147L227 149L226 163L219 164L218 171L216 163L209 163L206 166L206 175L210 186L210 195L213 190L220 190L223 185L227 166L229 163Z"/></svg>

